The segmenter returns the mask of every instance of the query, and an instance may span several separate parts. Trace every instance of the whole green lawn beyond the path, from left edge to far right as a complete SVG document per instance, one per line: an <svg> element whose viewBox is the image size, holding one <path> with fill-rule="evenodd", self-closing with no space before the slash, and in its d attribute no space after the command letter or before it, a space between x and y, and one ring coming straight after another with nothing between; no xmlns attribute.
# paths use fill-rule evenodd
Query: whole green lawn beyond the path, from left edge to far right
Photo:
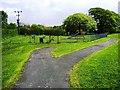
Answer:
<svg viewBox="0 0 120 90"><path fill-rule="evenodd" d="M60 37L60 44L56 44L55 41L50 44L39 43L39 36L36 37L34 43L30 36L14 36L2 40L2 86L10 87L19 79L22 69L25 63L28 61L30 54L36 50L45 47L54 47L52 51L53 57L60 57L62 55L69 54L71 52L107 41L111 38L117 38L118 34L109 35L107 38L98 39L92 42L83 42L79 40L64 40L67 36ZM48 36L45 38L45 42L49 40Z"/></svg>

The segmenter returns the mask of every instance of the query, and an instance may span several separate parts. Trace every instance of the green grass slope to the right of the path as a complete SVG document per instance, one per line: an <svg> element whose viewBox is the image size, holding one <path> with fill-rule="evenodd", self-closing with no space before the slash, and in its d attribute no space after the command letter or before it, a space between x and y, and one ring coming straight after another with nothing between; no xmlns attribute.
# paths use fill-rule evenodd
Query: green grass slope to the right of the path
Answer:
<svg viewBox="0 0 120 90"><path fill-rule="evenodd" d="M71 87L120 88L118 48L116 42L74 65L70 72Z"/></svg>

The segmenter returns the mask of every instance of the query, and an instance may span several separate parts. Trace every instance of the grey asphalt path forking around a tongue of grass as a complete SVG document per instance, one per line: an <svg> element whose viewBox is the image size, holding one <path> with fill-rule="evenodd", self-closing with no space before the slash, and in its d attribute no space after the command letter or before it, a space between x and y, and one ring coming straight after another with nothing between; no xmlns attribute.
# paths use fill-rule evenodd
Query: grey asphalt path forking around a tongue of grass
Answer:
<svg viewBox="0 0 120 90"><path fill-rule="evenodd" d="M111 39L60 58L51 56L50 52L53 48L37 50L32 53L23 75L13 88L69 88L69 72L72 66L116 40Z"/></svg>

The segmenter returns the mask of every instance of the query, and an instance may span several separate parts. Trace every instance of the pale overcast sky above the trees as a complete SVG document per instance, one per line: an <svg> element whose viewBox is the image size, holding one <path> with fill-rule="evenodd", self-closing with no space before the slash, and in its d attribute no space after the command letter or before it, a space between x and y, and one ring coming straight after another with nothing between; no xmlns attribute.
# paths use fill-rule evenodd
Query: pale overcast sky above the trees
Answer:
<svg viewBox="0 0 120 90"><path fill-rule="evenodd" d="M25 24L60 25L69 15L101 7L118 12L120 0L0 0L0 10L8 14L8 22L16 22L15 10L22 10Z"/></svg>

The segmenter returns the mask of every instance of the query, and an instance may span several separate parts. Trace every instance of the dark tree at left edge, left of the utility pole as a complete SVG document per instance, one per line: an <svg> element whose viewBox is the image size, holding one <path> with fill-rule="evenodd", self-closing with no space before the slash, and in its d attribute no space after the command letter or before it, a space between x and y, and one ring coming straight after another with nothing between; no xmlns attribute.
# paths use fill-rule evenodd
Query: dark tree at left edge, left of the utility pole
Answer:
<svg viewBox="0 0 120 90"><path fill-rule="evenodd" d="M1 18L0 22L2 23L2 27L7 28L7 18L8 18L7 13L4 11L0 11L0 18Z"/></svg>

